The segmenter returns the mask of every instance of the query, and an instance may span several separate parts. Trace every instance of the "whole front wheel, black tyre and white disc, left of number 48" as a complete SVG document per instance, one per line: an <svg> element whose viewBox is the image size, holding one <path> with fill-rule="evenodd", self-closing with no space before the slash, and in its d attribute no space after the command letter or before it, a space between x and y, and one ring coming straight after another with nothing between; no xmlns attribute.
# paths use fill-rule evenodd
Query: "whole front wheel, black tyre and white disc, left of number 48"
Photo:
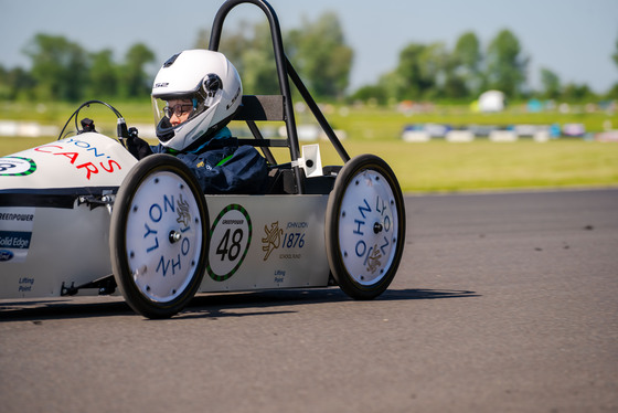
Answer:
<svg viewBox="0 0 618 413"><path fill-rule="evenodd" d="M169 155L138 162L116 195L109 234L114 277L129 306L148 318L181 311L202 282L207 234L191 170Z"/></svg>

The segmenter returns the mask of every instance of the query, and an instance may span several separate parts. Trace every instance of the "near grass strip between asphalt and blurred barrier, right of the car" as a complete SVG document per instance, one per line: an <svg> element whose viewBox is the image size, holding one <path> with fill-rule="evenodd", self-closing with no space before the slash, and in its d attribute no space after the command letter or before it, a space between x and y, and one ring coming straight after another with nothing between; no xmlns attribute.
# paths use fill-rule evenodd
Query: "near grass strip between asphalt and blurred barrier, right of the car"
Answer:
<svg viewBox="0 0 618 413"><path fill-rule="evenodd" d="M337 155L324 149L323 163L334 162ZM347 149L385 159L404 192L618 186L615 144L349 142Z"/></svg>

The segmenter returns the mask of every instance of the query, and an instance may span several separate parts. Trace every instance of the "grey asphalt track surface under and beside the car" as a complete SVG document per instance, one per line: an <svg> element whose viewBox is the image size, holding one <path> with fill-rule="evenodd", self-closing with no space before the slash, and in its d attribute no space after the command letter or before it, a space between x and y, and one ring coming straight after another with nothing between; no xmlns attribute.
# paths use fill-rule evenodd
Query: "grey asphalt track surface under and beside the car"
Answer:
<svg viewBox="0 0 618 413"><path fill-rule="evenodd" d="M407 197L401 269L337 287L0 301L9 412L616 412L618 190Z"/></svg>

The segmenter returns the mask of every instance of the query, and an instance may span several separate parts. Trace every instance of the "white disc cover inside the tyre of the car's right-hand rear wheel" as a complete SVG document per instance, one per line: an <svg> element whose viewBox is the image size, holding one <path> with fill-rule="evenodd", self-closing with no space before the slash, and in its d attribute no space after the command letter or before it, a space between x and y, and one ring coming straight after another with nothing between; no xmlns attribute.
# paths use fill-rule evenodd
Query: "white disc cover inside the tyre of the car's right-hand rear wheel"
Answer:
<svg viewBox="0 0 618 413"><path fill-rule="evenodd" d="M374 285L396 254L395 195L384 176L363 170L349 182L339 210L339 248L343 265L360 285Z"/></svg>

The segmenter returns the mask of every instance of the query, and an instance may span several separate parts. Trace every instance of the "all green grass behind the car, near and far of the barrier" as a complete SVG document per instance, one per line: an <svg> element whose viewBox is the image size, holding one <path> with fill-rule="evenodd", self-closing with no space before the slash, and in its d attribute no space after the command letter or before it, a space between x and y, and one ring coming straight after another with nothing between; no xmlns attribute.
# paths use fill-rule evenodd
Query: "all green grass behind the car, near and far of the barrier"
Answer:
<svg viewBox="0 0 618 413"><path fill-rule="evenodd" d="M148 104L115 104L129 126L152 121ZM35 120L62 127L77 107L53 104L29 107L24 104L4 105L3 118ZM83 116L96 120L99 129L114 130L116 118L103 106L94 106ZM604 124L618 128L618 115L603 112L575 114L526 114L518 108L496 115L468 112L465 107L438 107L431 114L406 116L383 108L360 108L348 112L326 109L334 128L347 131L343 145L351 156L375 153L395 171L404 192L449 192L478 190L509 190L531 188L618 187L618 144L601 144L583 139L557 139L545 144L532 140L498 144L476 140L470 144L449 144L444 140L427 144L405 144L399 139L405 125L412 123L443 123L450 125L511 125L583 123L587 130L603 130ZM83 117L82 116L82 117ZM297 115L297 123L306 123L307 115ZM0 156L54 140L47 138L0 137ZM323 165L341 161L330 144L320 142ZM283 153L283 156L280 156ZM289 159L286 150L275 150L277 159Z"/></svg>

